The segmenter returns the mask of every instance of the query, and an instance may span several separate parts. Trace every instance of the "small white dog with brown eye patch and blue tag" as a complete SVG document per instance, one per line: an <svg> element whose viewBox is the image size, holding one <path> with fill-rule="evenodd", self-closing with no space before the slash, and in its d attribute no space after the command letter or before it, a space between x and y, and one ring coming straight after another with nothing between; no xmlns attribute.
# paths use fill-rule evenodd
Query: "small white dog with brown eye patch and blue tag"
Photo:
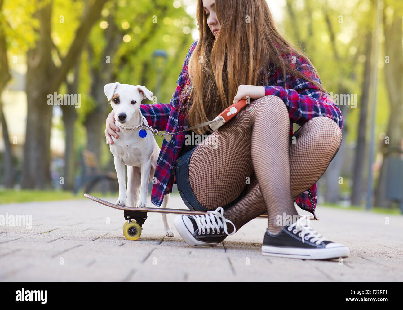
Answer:
<svg viewBox="0 0 403 310"><path fill-rule="evenodd" d="M141 85L110 83L104 92L115 113L115 124L120 128L119 138L112 137L110 151L114 156L119 183L118 206L145 208L147 206L148 182L154 177L160 148L151 131L140 131L147 119L140 111L141 100L152 100L153 93ZM125 165L127 166L127 189ZM140 191L140 195L139 195ZM127 200L126 200L127 199ZM168 204L169 194L165 195L162 208ZM172 230L162 214L165 235L173 236Z"/></svg>

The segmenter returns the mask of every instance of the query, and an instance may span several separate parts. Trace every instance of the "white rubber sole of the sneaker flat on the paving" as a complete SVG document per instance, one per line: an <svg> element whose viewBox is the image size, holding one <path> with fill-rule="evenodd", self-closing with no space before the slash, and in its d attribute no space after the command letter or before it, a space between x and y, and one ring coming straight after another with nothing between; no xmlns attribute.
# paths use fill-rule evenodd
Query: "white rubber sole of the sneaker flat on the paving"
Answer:
<svg viewBox="0 0 403 310"><path fill-rule="evenodd" d="M299 258L307 260L322 260L330 258L347 257L350 250L346 246L324 249L299 249L278 246L262 246L262 254L265 256Z"/></svg>

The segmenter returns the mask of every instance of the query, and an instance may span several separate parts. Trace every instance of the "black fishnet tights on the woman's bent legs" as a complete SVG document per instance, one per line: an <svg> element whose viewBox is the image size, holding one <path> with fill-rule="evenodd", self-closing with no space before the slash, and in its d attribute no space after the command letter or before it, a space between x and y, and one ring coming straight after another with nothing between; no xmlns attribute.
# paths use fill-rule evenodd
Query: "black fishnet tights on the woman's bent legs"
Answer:
<svg viewBox="0 0 403 310"><path fill-rule="evenodd" d="M189 163L199 203L214 210L235 200L246 186L247 194L225 210L225 218L238 230L267 212L269 231L278 233L282 227L276 216L298 214L294 201L323 175L341 144L341 130L329 118L311 119L291 140L289 125L284 102L265 96L209 135Z"/></svg>

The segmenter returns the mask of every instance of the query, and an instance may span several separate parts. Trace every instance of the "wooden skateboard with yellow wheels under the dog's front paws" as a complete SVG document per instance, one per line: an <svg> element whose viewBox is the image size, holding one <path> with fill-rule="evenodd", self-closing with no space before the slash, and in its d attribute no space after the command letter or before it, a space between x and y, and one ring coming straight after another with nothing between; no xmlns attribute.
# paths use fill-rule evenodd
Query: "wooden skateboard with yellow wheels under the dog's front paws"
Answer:
<svg viewBox="0 0 403 310"><path fill-rule="evenodd" d="M207 212L204 211L193 211L188 209L166 209L166 208L133 208L133 207L123 207L117 206L116 204L112 204L100 198L91 196L87 193L84 194L84 197L89 198L95 202L103 204L104 206L123 210L123 216L125 217L126 222L123 224L123 235L129 240L137 240L141 236L141 230L143 229L143 224L147 219L147 212L154 213L165 213L165 214L181 214L181 215L204 215ZM267 214L262 214L258 216L258 218L267 218ZM315 218L313 216L310 217L311 220ZM319 218L316 217L317 221Z"/></svg>

